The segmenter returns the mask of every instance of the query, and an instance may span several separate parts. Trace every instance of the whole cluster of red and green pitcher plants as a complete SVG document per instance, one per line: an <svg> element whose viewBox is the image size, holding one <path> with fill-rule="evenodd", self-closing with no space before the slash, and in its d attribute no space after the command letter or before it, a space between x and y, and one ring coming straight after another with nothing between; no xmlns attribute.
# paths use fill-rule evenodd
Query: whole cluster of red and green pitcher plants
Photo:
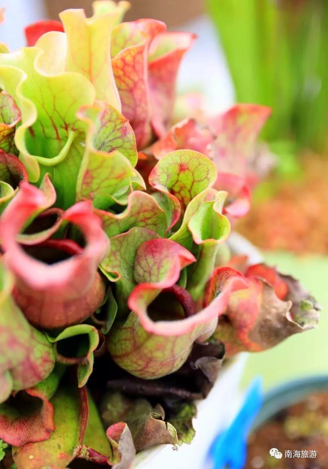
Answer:
<svg viewBox="0 0 328 469"><path fill-rule="evenodd" d="M194 36L93 8L0 45L3 467L124 469L190 443L224 356L318 322L297 280L229 245L270 110L194 119L186 100L176 122Z"/></svg>

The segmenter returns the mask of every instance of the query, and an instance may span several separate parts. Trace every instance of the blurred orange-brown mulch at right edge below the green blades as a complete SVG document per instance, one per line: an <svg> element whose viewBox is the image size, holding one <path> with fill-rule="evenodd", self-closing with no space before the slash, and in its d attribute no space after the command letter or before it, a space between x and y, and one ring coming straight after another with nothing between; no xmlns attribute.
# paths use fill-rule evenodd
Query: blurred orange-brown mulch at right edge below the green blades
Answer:
<svg viewBox="0 0 328 469"><path fill-rule="evenodd" d="M256 246L328 254L328 157L308 155L302 166L296 181L272 177L273 196L255 200L238 223L237 231Z"/></svg>

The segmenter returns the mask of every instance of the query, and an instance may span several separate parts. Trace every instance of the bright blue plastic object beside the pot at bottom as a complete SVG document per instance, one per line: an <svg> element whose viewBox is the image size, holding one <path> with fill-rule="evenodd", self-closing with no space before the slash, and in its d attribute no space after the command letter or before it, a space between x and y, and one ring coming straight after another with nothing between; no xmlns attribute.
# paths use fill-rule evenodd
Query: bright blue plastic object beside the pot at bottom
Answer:
<svg viewBox="0 0 328 469"><path fill-rule="evenodd" d="M263 402L262 380L255 378L245 394L234 421L211 445L207 456L207 465L211 469L244 468L248 433Z"/></svg>

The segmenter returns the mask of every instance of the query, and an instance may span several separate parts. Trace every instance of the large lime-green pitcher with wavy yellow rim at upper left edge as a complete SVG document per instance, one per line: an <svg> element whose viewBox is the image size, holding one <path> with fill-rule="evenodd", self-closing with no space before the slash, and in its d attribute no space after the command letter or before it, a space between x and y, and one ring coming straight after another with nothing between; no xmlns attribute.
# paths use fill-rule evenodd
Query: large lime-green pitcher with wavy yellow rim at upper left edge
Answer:
<svg viewBox="0 0 328 469"><path fill-rule="evenodd" d="M57 204L66 208L75 200L83 152L84 124L76 112L93 102L95 91L82 75L48 75L41 68L42 57L37 47L0 54L0 84L22 112L15 145L30 181L37 182L48 171L57 191Z"/></svg>

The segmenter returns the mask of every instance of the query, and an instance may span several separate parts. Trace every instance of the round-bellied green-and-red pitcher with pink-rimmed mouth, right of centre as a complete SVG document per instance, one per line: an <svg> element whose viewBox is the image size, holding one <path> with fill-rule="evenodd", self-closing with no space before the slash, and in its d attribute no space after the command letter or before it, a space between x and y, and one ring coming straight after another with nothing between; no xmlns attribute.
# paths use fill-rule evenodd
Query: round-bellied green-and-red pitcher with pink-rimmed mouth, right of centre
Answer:
<svg viewBox="0 0 328 469"><path fill-rule="evenodd" d="M239 272L217 269L205 308L197 310L190 294L175 285L181 269L194 261L188 250L170 240L153 239L137 250L135 279L139 284L128 301L132 312L124 323L114 326L108 342L114 361L131 374L153 379L179 369L192 344L214 332L231 292L247 287Z"/></svg>

